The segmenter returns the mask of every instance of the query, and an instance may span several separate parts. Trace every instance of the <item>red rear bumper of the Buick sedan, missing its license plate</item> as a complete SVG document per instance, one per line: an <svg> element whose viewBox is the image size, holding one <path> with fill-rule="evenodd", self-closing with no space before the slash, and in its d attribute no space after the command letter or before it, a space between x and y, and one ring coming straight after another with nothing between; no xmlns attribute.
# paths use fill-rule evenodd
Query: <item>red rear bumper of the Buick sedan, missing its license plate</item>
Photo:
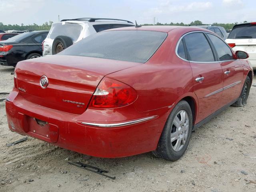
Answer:
<svg viewBox="0 0 256 192"><path fill-rule="evenodd" d="M11 131L103 158L132 156L155 150L169 111L169 108L161 108L143 114L144 118L140 116L118 122L90 122L90 117L86 118L84 114L75 115L33 104L22 98L15 89L6 100L6 114ZM112 119L117 119L117 116L121 118L124 114L113 112ZM36 119L47 124L39 126ZM125 124L136 120L138 122ZM124 125L120 126L120 123ZM105 126L106 124L114 126Z"/></svg>

